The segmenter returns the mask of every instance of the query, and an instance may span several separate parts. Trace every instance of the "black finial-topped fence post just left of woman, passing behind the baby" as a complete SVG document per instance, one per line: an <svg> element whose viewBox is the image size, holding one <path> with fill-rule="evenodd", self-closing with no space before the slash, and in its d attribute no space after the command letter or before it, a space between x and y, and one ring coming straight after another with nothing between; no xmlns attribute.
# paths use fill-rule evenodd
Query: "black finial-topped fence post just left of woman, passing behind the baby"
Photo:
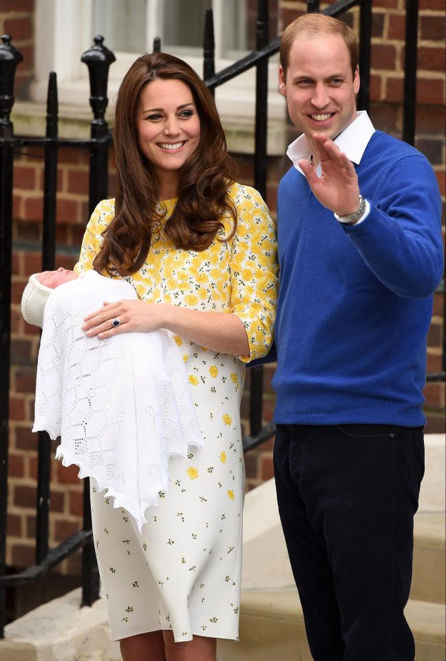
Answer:
<svg viewBox="0 0 446 661"><path fill-rule="evenodd" d="M88 67L90 97L94 119L91 124L91 137L97 144L90 150L89 171L89 213L108 193L108 154L109 127L105 121L107 109L107 81L109 66L116 60L114 54L103 45L103 36L95 36L94 45L85 51L81 61ZM92 514L89 504L89 479L84 480L83 491L83 529L92 529ZM91 606L99 596L99 572L91 539L83 547L82 562L82 605Z"/></svg>

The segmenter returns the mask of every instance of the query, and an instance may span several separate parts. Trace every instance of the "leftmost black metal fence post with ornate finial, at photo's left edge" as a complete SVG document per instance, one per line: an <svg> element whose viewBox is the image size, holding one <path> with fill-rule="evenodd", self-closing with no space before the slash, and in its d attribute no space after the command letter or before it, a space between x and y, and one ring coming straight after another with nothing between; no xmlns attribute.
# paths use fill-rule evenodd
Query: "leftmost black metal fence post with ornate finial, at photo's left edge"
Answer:
<svg viewBox="0 0 446 661"><path fill-rule="evenodd" d="M14 150L10 121L14 105L14 74L23 60L3 34L0 45L0 576L6 574L6 529L8 526L8 445L11 339L12 273L12 170ZM0 638L6 618L6 589L0 587Z"/></svg>

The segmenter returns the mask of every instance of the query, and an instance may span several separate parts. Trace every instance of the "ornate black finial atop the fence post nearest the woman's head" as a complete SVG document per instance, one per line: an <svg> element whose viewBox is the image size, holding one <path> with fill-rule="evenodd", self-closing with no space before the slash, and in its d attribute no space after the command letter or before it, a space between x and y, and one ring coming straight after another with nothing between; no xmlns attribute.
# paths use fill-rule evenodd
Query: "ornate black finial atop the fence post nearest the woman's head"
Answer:
<svg viewBox="0 0 446 661"><path fill-rule="evenodd" d="M104 37L97 34L93 38L94 45L83 53L81 62L88 67L90 82L89 102L94 114L94 123L105 124L105 109L107 109L107 81L109 66L116 60L114 53L103 45Z"/></svg>

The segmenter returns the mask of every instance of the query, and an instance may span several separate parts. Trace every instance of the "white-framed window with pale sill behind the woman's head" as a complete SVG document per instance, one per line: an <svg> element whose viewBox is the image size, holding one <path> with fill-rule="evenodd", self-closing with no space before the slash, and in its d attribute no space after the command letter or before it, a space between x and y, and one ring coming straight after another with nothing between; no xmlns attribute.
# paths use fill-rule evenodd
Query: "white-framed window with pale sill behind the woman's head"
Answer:
<svg viewBox="0 0 446 661"><path fill-rule="evenodd" d="M131 63L138 54L152 50L156 36L162 50L182 57L202 75L204 10L210 4L218 72L255 47L257 3L253 0L36 0L33 100L45 101L48 73L56 71L59 103L88 107L88 70L81 54L92 45L95 34L105 37L105 45L116 56L109 69L109 103ZM277 17L271 22L277 25ZM277 68L275 58L268 73L270 120L285 117L284 99L277 92ZM229 123L253 131L254 70L218 87L215 98L225 127Z"/></svg>

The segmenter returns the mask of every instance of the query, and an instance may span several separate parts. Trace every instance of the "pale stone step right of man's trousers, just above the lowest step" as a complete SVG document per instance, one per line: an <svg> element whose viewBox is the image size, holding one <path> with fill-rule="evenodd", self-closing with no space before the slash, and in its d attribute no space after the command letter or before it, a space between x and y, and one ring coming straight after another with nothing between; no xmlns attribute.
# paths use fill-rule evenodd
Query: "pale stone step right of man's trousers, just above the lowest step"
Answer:
<svg viewBox="0 0 446 661"><path fill-rule="evenodd" d="M414 565L410 598L445 603L445 514L418 512L414 521Z"/></svg>

